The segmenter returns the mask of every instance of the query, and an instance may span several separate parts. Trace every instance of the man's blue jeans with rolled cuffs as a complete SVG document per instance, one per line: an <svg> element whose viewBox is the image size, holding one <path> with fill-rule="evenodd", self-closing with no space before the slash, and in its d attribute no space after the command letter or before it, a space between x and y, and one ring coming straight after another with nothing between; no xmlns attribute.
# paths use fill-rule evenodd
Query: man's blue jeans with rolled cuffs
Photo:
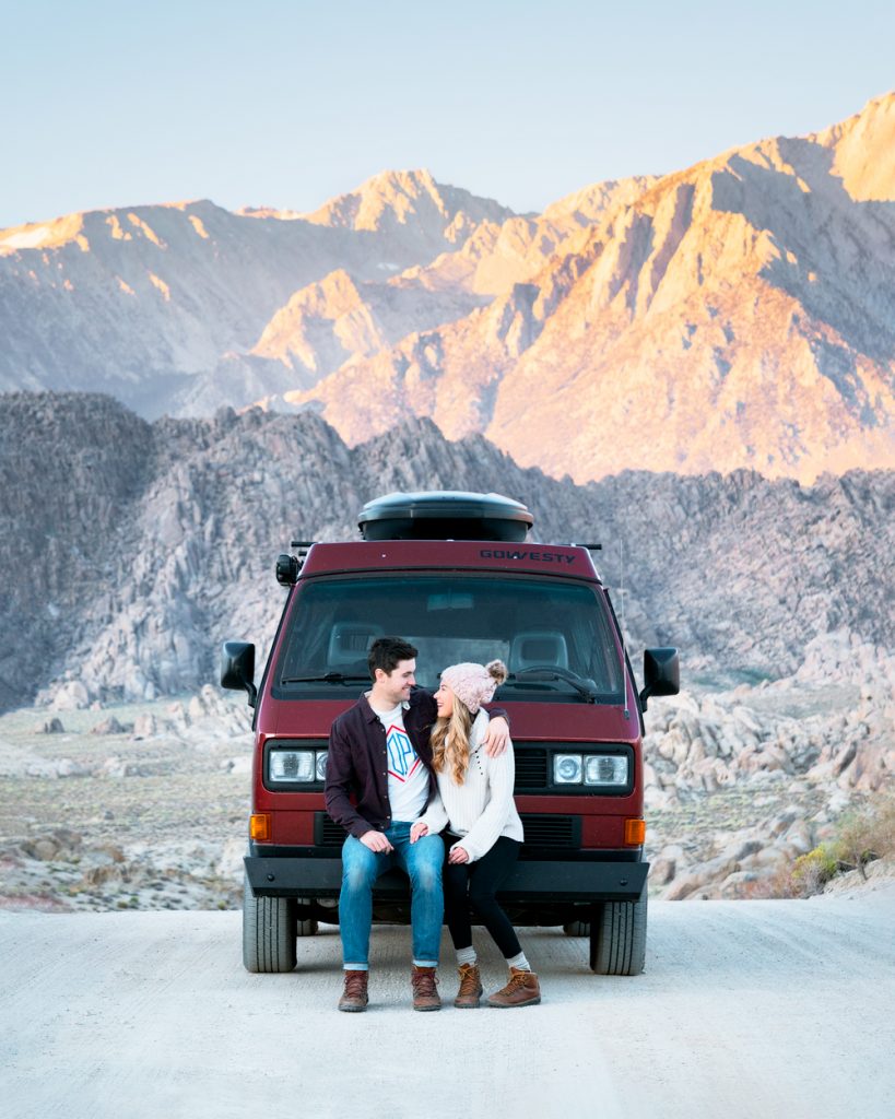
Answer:
<svg viewBox="0 0 895 1119"><path fill-rule="evenodd" d="M369 970L373 884L389 867L401 866L411 880L413 962L421 968L434 968L439 962L444 916L441 888L444 844L441 836L432 835L412 844L411 824L403 820L393 821L383 834L394 847L387 854L371 852L354 836L348 836L342 847L339 932L343 966L352 971Z"/></svg>

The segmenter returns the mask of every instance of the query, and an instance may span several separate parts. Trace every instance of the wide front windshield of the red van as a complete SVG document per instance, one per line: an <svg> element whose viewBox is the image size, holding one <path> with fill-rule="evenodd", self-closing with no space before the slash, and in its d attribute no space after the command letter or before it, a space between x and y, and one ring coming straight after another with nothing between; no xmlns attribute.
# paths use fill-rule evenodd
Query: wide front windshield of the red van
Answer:
<svg viewBox="0 0 895 1119"><path fill-rule="evenodd" d="M514 575L364 575L309 580L296 591L273 666L277 698L357 695L369 685L377 637L415 646L416 680L437 688L443 668L502 660L496 698L622 702L619 647L600 589Z"/></svg>

